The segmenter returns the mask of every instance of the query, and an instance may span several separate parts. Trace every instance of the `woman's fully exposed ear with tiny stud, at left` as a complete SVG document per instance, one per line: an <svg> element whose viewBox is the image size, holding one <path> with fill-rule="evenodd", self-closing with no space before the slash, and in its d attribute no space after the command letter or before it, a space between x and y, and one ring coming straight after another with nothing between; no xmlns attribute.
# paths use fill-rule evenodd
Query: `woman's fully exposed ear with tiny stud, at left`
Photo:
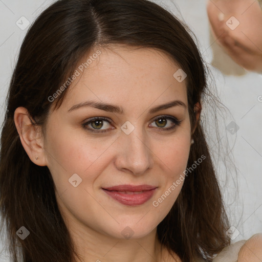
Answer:
<svg viewBox="0 0 262 262"><path fill-rule="evenodd" d="M25 107L17 107L14 112L14 122L21 144L33 163L38 166L46 166L47 161L45 149L43 148L41 127L34 126L29 116L28 110ZM38 159L36 159L37 157Z"/></svg>

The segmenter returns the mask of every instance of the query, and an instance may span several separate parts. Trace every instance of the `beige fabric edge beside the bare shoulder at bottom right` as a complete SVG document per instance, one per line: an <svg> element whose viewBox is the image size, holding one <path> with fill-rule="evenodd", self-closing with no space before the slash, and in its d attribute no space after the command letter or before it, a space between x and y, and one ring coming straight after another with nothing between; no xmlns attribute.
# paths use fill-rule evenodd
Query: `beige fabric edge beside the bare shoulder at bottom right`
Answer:
<svg viewBox="0 0 262 262"><path fill-rule="evenodd" d="M246 240L241 240L225 247L214 259L213 262L237 262L238 252L246 243Z"/></svg>

